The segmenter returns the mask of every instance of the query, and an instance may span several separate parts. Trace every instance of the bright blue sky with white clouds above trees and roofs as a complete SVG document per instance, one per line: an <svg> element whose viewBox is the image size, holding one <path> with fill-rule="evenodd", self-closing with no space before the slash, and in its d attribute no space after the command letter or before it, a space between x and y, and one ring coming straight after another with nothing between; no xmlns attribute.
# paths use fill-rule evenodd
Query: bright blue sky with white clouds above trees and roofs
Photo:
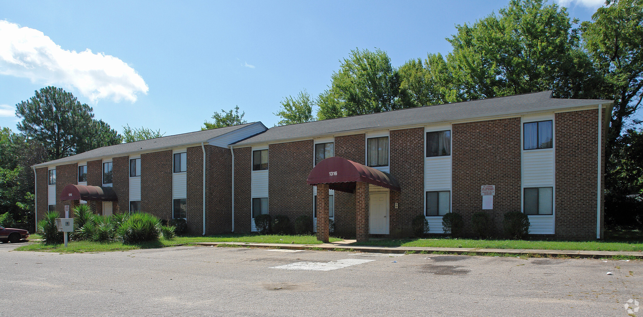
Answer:
<svg viewBox="0 0 643 317"><path fill-rule="evenodd" d="M394 66L446 54L455 24L508 2L0 1L0 32L11 34L0 37L0 126L17 130L15 104L55 85L119 132L192 132L235 105L270 127L286 96L327 89L351 49L382 49ZM597 3L561 4L584 21Z"/></svg>

